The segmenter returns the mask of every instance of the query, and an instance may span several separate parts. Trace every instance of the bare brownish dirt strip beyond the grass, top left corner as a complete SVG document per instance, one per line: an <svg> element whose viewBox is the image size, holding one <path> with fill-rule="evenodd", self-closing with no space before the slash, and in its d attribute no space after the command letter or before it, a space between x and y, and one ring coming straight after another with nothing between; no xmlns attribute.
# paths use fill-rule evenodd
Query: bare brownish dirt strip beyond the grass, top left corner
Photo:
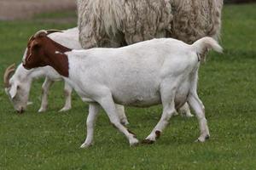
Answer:
<svg viewBox="0 0 256 170"><path fill-rule="evenodd" d="M0 0L0 20L28 19L34 14L76 10L75 0Z"/></svg>

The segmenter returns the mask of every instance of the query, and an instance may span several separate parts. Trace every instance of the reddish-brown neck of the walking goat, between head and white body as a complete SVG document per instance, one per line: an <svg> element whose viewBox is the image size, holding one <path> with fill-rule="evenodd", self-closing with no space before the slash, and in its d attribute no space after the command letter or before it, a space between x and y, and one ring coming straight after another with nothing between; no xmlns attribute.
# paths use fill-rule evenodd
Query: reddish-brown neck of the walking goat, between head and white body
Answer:
<svg viewBox="0 0 256 170"><path fill-rule="evenodd" d="M68 59L67 54L64 53L71 51L71 49L54 41L52 43L53 46L51 45L44 50L48 58L47 65L52 66L61 76L68 77Z"/></svg>

